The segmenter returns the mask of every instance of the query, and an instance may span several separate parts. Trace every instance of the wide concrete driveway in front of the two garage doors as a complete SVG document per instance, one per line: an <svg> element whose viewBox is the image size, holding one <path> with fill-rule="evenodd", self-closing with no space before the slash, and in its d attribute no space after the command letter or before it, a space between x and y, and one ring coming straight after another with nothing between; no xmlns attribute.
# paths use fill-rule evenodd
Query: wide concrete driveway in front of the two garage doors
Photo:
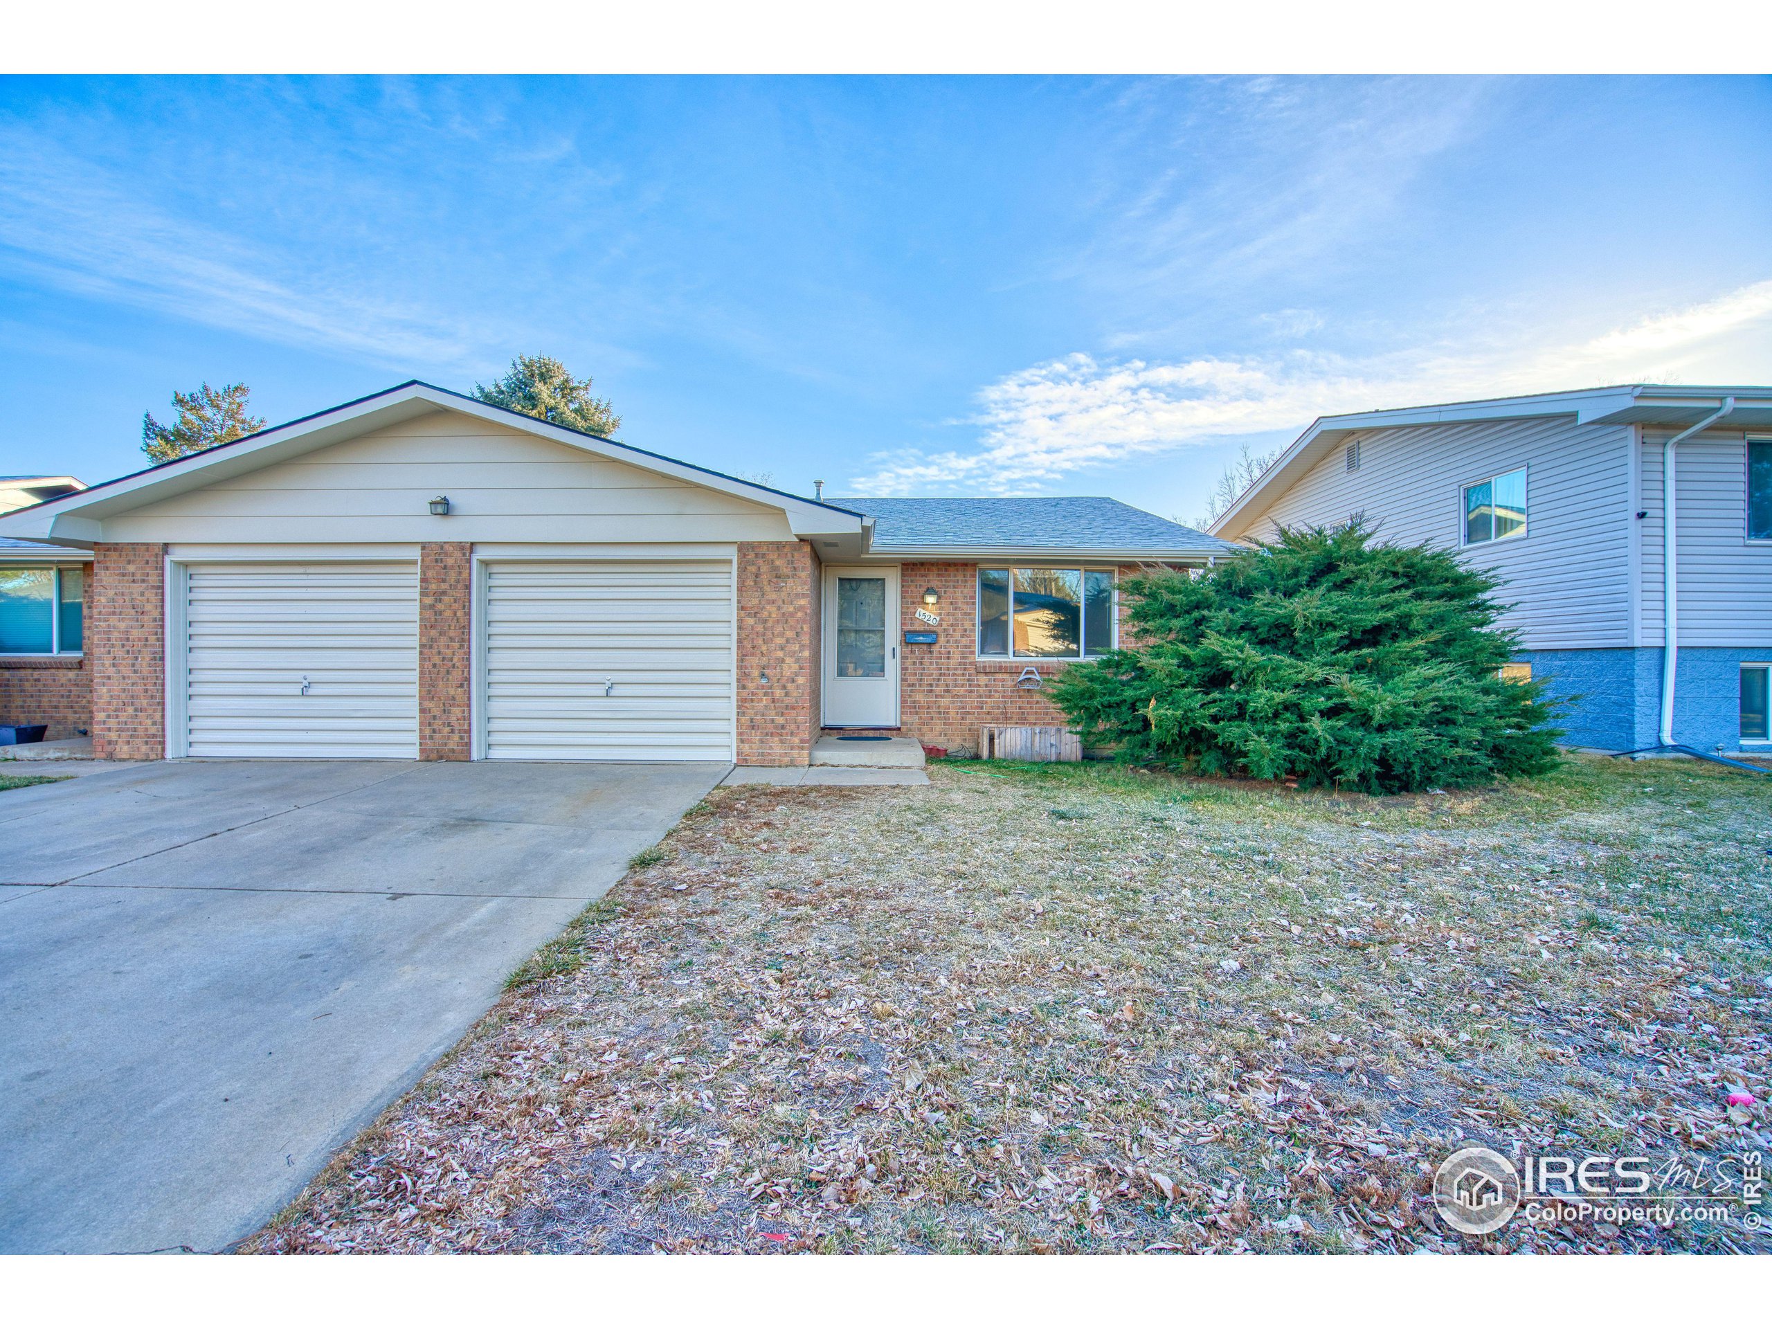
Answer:
<svg viewBox="0 0 1772 1329"><path fill-rule="evenodd" d="M246 1237L728 769L159 762L0 794L0 1251Z"/></svg>

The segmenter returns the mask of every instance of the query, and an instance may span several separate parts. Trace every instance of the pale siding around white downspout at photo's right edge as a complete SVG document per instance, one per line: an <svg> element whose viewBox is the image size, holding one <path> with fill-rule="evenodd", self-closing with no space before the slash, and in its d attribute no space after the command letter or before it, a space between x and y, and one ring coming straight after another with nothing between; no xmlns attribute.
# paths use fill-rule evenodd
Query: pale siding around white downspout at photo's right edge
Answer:
<svg viewBox="0 0 1772 1329"><path fill-rule="evenodd" d="M1639 643L1662 643L1662 441L1643 431L1643 608ZM1772 544L1747 540L1744 434L1680 445L1680 645L1772 647Z"/></svg>

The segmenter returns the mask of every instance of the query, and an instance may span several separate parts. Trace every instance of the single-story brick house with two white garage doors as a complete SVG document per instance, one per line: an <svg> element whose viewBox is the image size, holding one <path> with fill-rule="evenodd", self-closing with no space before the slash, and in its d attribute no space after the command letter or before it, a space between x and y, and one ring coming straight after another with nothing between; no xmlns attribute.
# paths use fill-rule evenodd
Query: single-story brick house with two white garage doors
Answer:
<svg viewBox="0 0 1772 1329"><path fill-rule="evenodd" d="M1106 498L813 501L425 383L0 537L0 723L97 757L751 766L1060 723L1116 578L1233 548Z"/></svg>

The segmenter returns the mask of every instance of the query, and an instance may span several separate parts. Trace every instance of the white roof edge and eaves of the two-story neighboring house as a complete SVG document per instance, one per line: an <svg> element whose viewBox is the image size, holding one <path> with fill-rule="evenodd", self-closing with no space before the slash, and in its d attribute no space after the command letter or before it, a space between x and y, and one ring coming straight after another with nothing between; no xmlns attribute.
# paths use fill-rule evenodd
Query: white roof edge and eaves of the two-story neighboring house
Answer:
<svg viewBox="0 0 1772 1329"><path fill-rule="evenodd" d="M1348 434L1363 429L1465 424L1473 420L1529 420L1574 415L1584 425L1694 425L1735 399L1729 429L1772 427L1772 388L1683 386L1669 383L1620 383L1577 392L1540 392L1524 397L1487 397L1474 402L1403 406L1386 411L1325 415L1311 422L1255 484L1212 523L1212 533L1247 530L1249 521L1310 471Z"/></svg>

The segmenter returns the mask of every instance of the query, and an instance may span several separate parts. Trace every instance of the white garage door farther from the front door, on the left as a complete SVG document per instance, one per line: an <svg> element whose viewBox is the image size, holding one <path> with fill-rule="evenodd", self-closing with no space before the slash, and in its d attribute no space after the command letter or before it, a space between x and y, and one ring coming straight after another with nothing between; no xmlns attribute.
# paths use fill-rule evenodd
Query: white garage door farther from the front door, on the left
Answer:
<svg viewBox="0 0 1772 1329"><path fill-rule="evenodd" d="M186 571L191 757L418 757L416 563Z"/></svg>

